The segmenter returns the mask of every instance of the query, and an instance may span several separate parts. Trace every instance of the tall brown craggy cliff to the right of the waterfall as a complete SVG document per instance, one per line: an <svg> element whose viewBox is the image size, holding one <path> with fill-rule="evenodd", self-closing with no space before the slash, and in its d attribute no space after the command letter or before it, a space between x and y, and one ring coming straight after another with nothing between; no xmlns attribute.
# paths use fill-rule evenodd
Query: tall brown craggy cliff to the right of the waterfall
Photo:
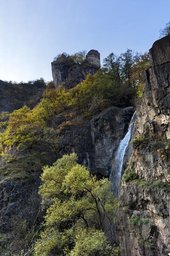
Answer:
<svg viewBox="0 0 170 256"><path fill-rule="evenodd" d="M133 154L122 180L116 241L124 256L170 255L170 36L150 49L153 67L144 71L145 91L137 108Z"/></svg>

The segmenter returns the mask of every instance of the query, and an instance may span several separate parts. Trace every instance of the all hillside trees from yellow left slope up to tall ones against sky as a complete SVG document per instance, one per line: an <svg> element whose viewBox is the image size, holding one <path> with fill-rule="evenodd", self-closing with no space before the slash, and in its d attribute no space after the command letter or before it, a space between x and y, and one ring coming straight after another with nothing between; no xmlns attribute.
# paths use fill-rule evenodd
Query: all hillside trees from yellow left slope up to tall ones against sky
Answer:
<svg viewBox="0 0 170 256"><path fill-rule="evenodd" d="M71 90L66 90L64 85L54 89L50 82L40 103L32 110L24 106L13 113L3 112L3 121L0 123L1 128L5 129L0 134L3 148L8 150L14 146L17 149L31 149L38 140L47 141L45 134L48 133L51 143L47 143L53 145L54 153L57 154L54 141L57 141L62 127L57 131L47 128L48 120L54 114L65 112L63 125L75 125L80 116L91 118L110 105L131 105L136 92L137 96L140 94L142 70L150 64L148 54L136 55L135 60L129 49L120 57L111 53L105 58L104 68L94 76L89 74Z"/></svg>

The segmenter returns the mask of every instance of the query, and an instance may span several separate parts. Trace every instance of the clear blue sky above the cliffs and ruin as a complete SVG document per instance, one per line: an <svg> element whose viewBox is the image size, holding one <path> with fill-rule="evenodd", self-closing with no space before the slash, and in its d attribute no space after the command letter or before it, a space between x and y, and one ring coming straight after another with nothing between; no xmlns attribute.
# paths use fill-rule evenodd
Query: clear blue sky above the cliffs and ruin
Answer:
<svg viewBox="0 0 170 256"><path fill-rule="evenodd" d="M169 20L170 0L0 0L0 79L50 81L61 52L144 52Z"/></svg>

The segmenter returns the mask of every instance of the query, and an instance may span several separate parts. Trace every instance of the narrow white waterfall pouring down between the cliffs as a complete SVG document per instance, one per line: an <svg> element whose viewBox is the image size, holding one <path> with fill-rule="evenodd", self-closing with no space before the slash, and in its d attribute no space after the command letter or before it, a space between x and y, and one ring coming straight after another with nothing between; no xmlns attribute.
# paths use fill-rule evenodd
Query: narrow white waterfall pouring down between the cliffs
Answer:
<svg viewBox="0 0 170 256"><path fill-rule="evenodd" d="M133 125L133 119L136 115L136 111L135 113L133 113L130 125L128 127L128 131L127 134L125 135L125 137L121 140L119 147L116 151L116 155L115 155L115 159L113 161L112 164L112 168L111 168L111 174L109 177L109 181L111 181L112 183L112 192L114 194L115 197L119 196L120 194L120 180L121 180L121 174L122 174L122 166L123 166L123 159L125 156L125 151L127 148L127 145L129 144L129 140L131 137L131 131L132 131L132 125Z"/></svg>

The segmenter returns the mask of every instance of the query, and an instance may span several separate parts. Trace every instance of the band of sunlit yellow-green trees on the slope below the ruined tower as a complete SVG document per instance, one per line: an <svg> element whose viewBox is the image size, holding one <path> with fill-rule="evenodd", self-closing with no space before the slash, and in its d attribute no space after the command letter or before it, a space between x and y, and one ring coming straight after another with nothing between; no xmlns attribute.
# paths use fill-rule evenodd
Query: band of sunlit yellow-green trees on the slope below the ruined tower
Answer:
<svg viewBox="0 0 170 256"><path fill-rule="evenodd" d="M66 90L62 85L54 89L53 83L50 82L35 108L31 110L24 106L13 113L2 114L3 121L0 125L1 128L6 129L0 134L0 142L6 149L11 146L20 149L31 148L37 140L44 138L44 128L54 113L66 111L75 113L74 118L79 114L91 118L109 105L123 105L133 93L133 88L128 87L127 84L115 86L105 69L94 76L89 74L85 81L71 90ZM52 130L51 134L54 134Z"/></svg>

